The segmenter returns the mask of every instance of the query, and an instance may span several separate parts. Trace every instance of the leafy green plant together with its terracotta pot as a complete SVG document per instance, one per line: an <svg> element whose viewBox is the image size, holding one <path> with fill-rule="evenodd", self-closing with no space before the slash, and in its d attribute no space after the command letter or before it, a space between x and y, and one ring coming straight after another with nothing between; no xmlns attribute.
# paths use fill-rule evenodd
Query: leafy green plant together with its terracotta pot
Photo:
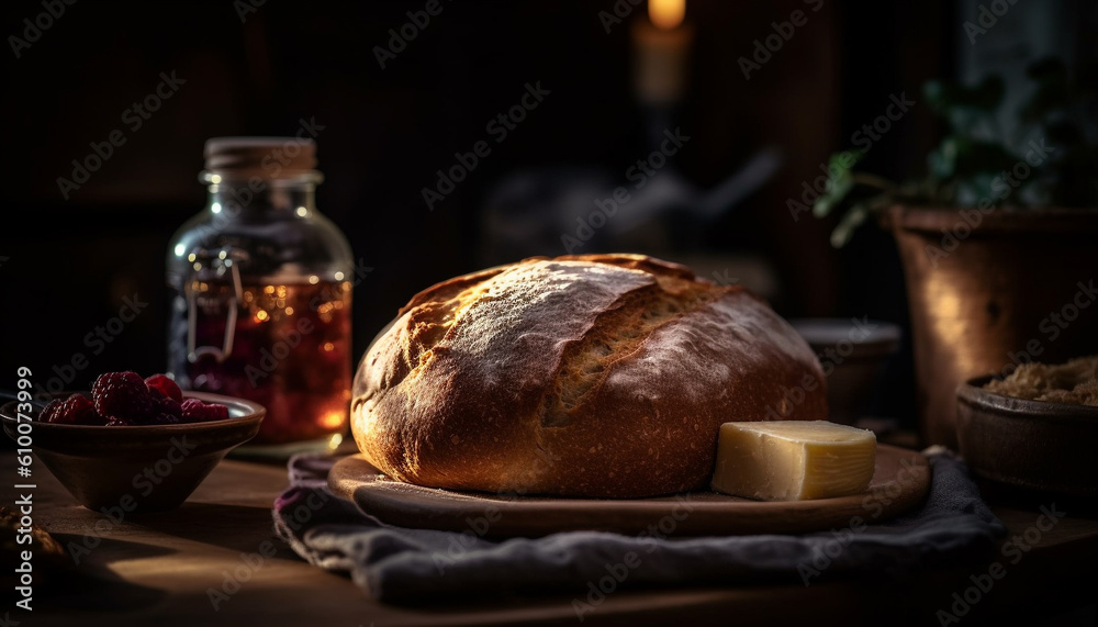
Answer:
<svg viewBox="0 0 1098 627"><path fill-rule="evenodd" d="M870 219L895 237L927 444L956 448L961 382L1098 352L1098 64L1072 72L1047 58L1027 76L1033 90L1009 132L1000 77L926 83L948 127L926 175L889 181L839 153L813 206L843 212L834 246Z"/></svg>

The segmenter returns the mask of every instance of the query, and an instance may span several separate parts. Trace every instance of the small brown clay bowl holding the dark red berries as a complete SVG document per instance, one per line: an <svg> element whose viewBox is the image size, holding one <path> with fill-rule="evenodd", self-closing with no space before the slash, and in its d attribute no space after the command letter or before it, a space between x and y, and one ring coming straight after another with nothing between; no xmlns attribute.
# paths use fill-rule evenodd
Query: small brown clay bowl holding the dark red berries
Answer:
<svg viewBox="0 0 1098 627"><path fill-rule="evenodd" d="M226 405L229 417L205 423L111 427L32 422L31 449L89 510L115 515L173 510L229 450L259 433L259 424L267 414L262 405L243 399L187 391L183 396ZM19 440L23 434L19 432L16 404L9 402L0 407L0 419L8 436L22 447L25 440ZM35 408L33 417L37 417L37 412ZM42 472L34 464L31 471L26 483L34 483Z"/></svg>

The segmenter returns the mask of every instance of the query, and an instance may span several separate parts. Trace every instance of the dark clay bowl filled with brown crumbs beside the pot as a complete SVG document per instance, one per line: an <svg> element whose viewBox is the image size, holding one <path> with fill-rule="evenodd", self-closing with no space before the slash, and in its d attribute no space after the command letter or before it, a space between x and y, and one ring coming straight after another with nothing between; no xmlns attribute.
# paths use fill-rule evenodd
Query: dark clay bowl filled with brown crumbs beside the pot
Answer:
<svg viewBox="0 0 1098 627"><path fill-rule="evenodd" d="M977 377L957 387L957 440L968 468L1016 489L1098 497L1098 407L983 390L990 380Z"/></svg>

